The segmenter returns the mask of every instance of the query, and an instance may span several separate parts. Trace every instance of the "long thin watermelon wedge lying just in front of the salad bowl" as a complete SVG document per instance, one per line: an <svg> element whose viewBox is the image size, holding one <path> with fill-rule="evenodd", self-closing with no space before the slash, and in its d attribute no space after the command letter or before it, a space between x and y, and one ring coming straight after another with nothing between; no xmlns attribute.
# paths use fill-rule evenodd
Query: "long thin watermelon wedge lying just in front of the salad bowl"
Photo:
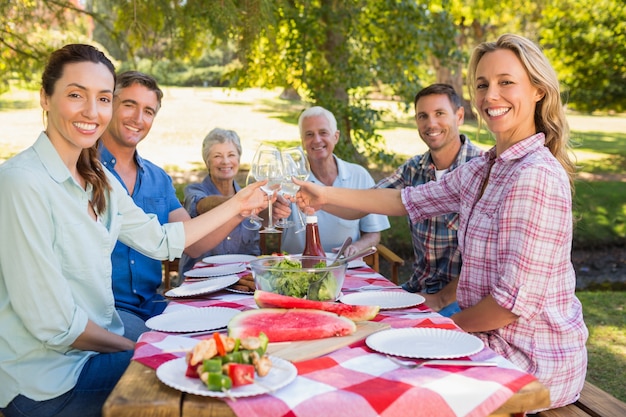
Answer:
<svg viewBox="0 0 626 417"><path fill-rule="evenodd" d="M262 290L254 292L254 301L261 308L312 308L329 311L352 321L371 320L380 311L379 306L351 306L329 301L305 300Z"/></svg>

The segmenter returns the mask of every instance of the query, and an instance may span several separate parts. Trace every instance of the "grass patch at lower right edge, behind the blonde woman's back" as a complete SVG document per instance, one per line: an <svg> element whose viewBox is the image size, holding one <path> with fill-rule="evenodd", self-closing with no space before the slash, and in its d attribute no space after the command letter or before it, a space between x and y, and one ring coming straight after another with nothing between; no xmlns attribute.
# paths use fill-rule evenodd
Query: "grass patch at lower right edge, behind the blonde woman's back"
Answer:
<svg viewBox="0 0 626 417"><path fill-rule="evenodd" d="M626 292L577 292L589 329L587 379L626 401Z"/></svg>

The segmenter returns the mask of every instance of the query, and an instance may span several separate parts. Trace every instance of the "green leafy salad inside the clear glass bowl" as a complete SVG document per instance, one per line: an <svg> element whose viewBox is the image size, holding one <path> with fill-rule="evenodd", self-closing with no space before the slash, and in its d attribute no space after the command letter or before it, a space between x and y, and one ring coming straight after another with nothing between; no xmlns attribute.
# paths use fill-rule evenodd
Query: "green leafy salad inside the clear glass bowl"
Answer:
<svg viewBox="0 0 626 417"><path fill-rule="evenodd" d="M313 268L325 267L324 261L313 266ZM282 259L272 266L272 271L259 274L257 279L262 282L261 288L291 297L327 301L334 300L337 291L337 283L331 272L303 271L302 264L295 259Z"/></svg>

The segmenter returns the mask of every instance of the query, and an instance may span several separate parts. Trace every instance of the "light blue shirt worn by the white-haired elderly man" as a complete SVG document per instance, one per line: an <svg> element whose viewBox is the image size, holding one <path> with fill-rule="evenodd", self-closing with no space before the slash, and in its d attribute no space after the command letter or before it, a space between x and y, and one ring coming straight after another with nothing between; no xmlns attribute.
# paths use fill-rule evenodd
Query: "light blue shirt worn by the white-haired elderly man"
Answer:
<svg viewBox="0 0 626 417"><path fill-rule="evenodd" d="M341 160L333 155L337 162L337 178L333 182L333 187L342 188L372 188L374 179L365 168L360 165L352 164ZM311 174L309 181L316 184L324 185L320 180ZM298 208L295 204L291 205L290 220L299 221L296 217ZM380 232L389 229L389 219L387 216L380 214L368 214L357 220L346 220L327 213L324 210L315 212L317 216L317 224L320 230L320 239L324 251L332 252L333 248L341 246L343 241L350 236L352 241L356 242L361 238L361 232ZM297 227L289 227L283 231L281 250L287 253L302 253L306 233L296 233Z"/></svg>

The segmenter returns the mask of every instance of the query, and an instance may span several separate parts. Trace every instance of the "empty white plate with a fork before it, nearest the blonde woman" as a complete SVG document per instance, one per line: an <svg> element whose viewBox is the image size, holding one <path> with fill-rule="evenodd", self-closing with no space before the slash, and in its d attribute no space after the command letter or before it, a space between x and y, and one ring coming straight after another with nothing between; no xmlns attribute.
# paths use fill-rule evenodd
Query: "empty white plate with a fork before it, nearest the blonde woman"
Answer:
<svg viewBox="0 0 626 417"><path fill-rule="evenodd" d="M437 328L381 330L365 339L371 349L387 355L422 359L452 359L470 356L485 347L469 333Z"/></svg>

